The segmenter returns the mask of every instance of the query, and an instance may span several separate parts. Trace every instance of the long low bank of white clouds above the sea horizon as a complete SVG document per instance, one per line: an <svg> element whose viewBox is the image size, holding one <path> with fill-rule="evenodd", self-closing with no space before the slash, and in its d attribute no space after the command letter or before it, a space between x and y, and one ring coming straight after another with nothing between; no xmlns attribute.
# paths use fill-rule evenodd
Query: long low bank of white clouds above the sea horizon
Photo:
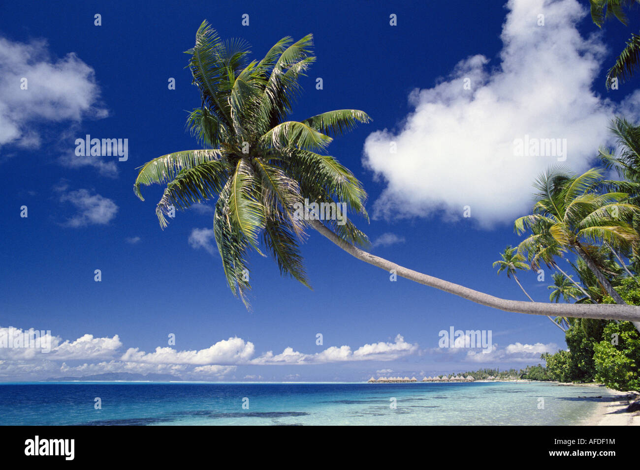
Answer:
<svg viewBox="0 0 640 470"><path fill-rule="evenodd" d="M393 342L365 344L355 350L343 345L305 354L287 347L281 354L269 351L257 357L254 357L253 343L237 337L218 341L200 350L157 347L153 352L145 352L130 347L123 354L123 344L118 335L96 338L92 334L84 334L76 340L63 341L49 332L42 332L41 343L18 347L15 340L28 331L0 327L0 379L42 380L69 375L84 377L106 372L129 372L170 374L176 379L213 380L223 379L239 366L392 361L418 352L418 345L407 343L400 334ZM244 379L262 379L262 376L254 373Z"/></svg>

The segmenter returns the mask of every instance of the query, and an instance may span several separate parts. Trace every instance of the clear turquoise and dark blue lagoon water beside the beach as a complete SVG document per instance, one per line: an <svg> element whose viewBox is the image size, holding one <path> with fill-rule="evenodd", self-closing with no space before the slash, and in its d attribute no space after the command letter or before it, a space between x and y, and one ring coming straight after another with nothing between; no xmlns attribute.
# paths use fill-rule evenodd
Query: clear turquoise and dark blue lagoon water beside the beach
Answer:
<svg viewBox="0 0 640 470"><path fill-rule="evenodd" d="M607 395L522 382L36 382L0 384L0 425L575 425Z"/></svg>

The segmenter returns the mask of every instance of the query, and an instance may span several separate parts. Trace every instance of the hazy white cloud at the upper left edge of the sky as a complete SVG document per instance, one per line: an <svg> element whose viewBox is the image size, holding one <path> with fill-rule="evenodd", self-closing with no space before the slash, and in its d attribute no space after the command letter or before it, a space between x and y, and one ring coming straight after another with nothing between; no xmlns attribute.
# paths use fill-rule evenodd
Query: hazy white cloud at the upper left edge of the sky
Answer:
<svg viewBox="0 0 640 470"><path fill-rule="evenodd" d="M56 59L45 40L0 37L0 147L37 148L40 123L104 118L99 98L93 68L73 52Z"/></svg>

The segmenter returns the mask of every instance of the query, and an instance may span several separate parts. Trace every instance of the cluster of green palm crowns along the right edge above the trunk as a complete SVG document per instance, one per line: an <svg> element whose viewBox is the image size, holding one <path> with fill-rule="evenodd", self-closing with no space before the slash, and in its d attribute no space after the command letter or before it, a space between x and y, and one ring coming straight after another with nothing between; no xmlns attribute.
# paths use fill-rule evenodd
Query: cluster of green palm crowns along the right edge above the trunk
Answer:
<svg viewBox="0 0 640 470"><path fill-rule="evenodd" d="M610 131L618 145L617 151L600 149L604 168L574 175L556 166L536 180L532 212L514 224L518 234L528 237L518 247L508 246L502 259L493 263L498 273L506 270L515 279L531 302L516 270L545 265L556 271L550 302L598 304L608 295L616 304L626 304L614 287L622 279L635 278L640 268L640 127L615 118ZM605 179L605 169L614 169L621 180ZM575 255L575 262L566 258L569 254ZM579 282L561 269L558 262L563 261L572 266ZM566 331L575 317L552 321ZM634 325L640 331L640 322Z"/></svg>

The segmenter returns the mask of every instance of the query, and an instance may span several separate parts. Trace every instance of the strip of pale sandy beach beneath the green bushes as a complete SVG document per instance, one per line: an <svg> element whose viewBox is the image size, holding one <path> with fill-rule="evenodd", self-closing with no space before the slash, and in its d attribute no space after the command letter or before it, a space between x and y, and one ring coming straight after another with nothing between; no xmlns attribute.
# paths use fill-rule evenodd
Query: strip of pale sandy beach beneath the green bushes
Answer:
<svg viewBox="0 0 640 470"><path fill-rule="evenodd" d="M552 382L553 383L553 382ZM586 426L640 426L640 412L626 412L628 405L638 398L634 392L623 392L606 388L601 384L564 384L558 386L597 387L607 393L602 395L602 401L597 403L591 416L580 425Z"/></svg>

